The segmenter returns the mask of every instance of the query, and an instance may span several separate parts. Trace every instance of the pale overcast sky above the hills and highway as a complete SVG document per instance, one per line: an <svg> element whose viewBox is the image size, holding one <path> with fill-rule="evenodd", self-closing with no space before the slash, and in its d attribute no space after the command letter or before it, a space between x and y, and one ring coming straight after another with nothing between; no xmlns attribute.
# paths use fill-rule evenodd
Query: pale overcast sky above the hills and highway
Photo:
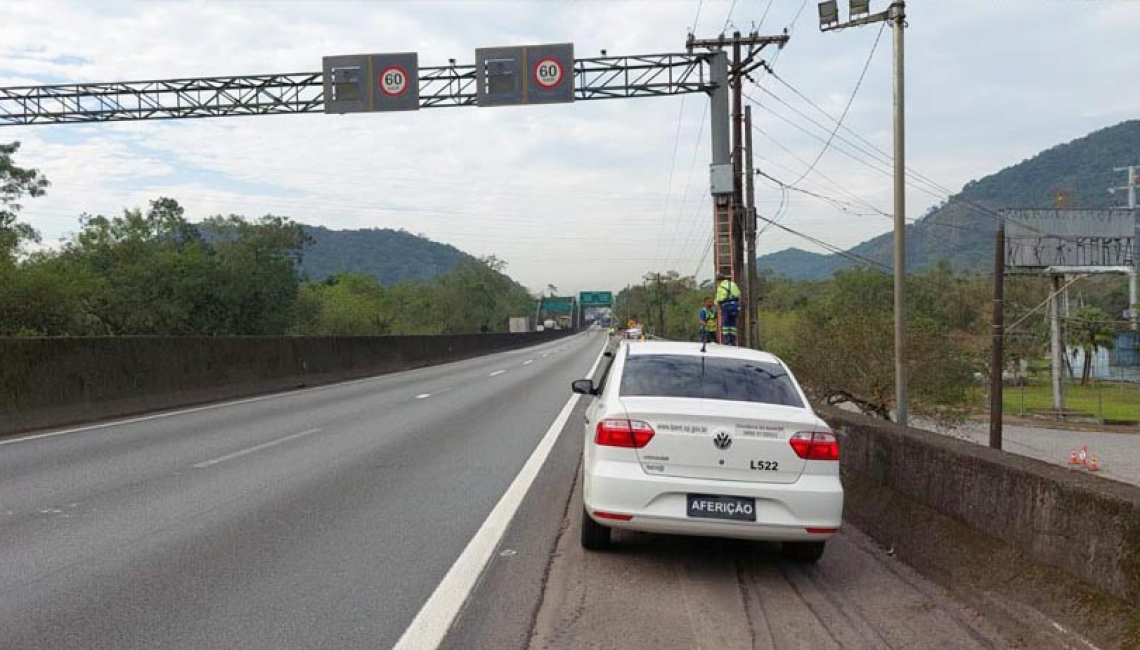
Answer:
<svg viewBox="0 0 1140 650"><path fill-rule="evenodd" d="M872 0L872 9L887 3ZM472 63L478 47L543 42L573 42L578 57L683 51L694 21L700 36L726 24L787 27L790 43L766 58L832 115L842 113L870 58L845 125L891 147L889 29L877 48L878 25L821 33L816 0L0 0L0 17L5 87L308 72L335 54L417 51L421 65ZM1140 115L1138 1L912 0L909 23L907 162L943 188L958 192ZM757 81L763 89L746 91L760 103L758 166L793 182L823 151L832 123L789 86ZM172 196L195 220L271 212L329 228L405 228L495 254L534 290L618 290L650 270L711 273L707 104L690 95L6 127L0 140L23 141L18 161L54 184L23 216L48 241L74 231L81 212ZM757 204L762 214L782 210L781 224L848 247L890 228L874 213L890 212L890 177L865 153L874 153L870 145L839 135L848 141L834 140L799 186L841 203L784 196L760 182ZM1105 165L1138 162L1140 152ZM910 217L944 197L927 190L909 188ZM759 241L762 253L789 246L820 250L775 229Z"/></svg>

